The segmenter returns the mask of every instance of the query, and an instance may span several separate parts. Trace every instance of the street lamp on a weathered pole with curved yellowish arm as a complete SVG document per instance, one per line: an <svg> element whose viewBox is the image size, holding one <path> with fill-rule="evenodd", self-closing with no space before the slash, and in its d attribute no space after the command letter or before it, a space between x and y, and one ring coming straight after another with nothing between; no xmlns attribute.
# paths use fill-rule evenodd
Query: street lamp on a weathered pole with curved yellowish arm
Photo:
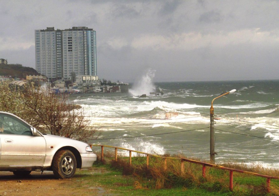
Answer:
<svg viewBox="0 0 279 196"><path fill-rule="evenodd" d="M220 95L219 97L222 97L224 95L227 95L228 93L233 93L235 92L236 89L233 89L227 93L224 93ZM216 97L212 100L211 102L211 107L210 107L210 162L215 163L215 152L214 152L214 108L213 108L213 102L215 99L219 98Z"/></svg>

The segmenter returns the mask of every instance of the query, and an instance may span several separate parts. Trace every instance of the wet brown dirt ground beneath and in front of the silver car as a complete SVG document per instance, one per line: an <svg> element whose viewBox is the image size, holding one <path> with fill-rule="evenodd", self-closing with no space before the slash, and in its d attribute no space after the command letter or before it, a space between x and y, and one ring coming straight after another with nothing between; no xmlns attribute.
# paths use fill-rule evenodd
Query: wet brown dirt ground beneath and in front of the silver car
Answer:
<svg viewBox="0 0 279 196"><path fill-rule="evenodd" d="M102 173L100 169L88 172ZM52 171L32 171L28 178L19 178L12 172L0 171L0 195L114 195L98 184L90 184L77 173L72 179L56 179Z"/></svg>

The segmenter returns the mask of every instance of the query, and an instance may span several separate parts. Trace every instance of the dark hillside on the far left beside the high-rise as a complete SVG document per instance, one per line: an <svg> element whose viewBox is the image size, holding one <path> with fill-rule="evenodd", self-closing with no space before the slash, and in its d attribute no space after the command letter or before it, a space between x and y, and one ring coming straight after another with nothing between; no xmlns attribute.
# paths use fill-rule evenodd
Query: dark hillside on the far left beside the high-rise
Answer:
<svg viewBox="0 0 279 196"><path fill-rule="evenodd" d="M12 78L26 78L26 75L39 75L39 73L31 68L24 67L21 64L0 64L0 75L12 76Z"/></svg>

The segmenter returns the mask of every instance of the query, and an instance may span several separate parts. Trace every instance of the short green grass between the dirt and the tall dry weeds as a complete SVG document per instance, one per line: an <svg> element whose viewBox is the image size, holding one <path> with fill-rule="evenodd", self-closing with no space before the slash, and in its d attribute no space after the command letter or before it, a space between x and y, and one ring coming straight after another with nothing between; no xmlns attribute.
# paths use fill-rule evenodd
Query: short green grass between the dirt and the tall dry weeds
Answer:
<svg viewBox="0 0 279 196"><path fill-rule="evenodd" d="M94 165L95 166L95 165ZM105 189L109 189L111 193L117 195L145 195L145 196L156 196L156 195L228 195L226 193L209 192L207 190L191 188L185 189L184 187L177 187L173 189L136 189L134 183L137 181L132 175L123 176L121 171L115 171L98 165L90 170L79 170L76 172L75 180L77 182L83 181L83 186L77 186L77 188L84 189L84 184L88 186L92 185L102 185ZM106 170L105 173L94 173L94 169L103 168ZM153 181L146 180L145 183L148 185L153 184Z"/></svg>

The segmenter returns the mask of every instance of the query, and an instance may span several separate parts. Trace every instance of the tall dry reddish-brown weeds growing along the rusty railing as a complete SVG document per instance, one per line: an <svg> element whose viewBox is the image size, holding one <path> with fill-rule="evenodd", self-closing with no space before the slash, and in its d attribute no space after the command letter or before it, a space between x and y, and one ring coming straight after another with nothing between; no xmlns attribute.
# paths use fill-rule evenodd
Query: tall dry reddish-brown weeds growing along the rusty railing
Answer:
<svg viewBox="0 0 279 196"><path fill-rule="evenodd" d="M98 153L97 153L98 154ZM179 156L180 157L180 156ZM98 155L98 160L99 159ZM192 159L192 158L191 158ZM181 173L180 160L165 160L149 157L149 166L146 157L132 157L132 165L128 157L119 157L114 160L114 153L105 153L101 166L120 171L124 176L132 176L132 187L135 190L199 190L205 195L279 195L279 180L271 180L270 193L267 193L266 178L233 172L233 191L229 189L229 171L206 167L206 175L202 176L202 166L184 163L184 172ZM222 166L238 170L251 171L270 176L279 176L278 170L263 168L261 165L244 165L226 163ZM195 195L194 193L192 195Z"/></svg>

